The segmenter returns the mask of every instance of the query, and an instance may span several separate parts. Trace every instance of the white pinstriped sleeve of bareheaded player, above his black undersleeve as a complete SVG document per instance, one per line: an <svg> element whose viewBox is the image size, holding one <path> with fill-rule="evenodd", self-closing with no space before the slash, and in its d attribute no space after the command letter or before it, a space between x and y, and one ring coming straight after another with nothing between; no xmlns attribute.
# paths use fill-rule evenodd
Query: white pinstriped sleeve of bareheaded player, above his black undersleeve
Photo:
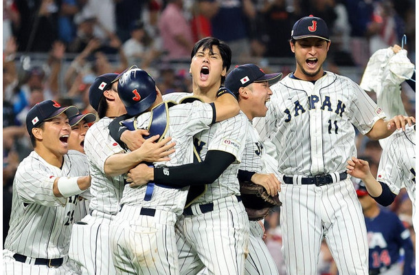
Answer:
<svg viewBox="0 0 419 275"><path fill-rule="evenodd" d="M240 113L233 118L223 120L216 127L216 133L208 144L208 151L216 150L230 153L240 162L247 137L247 118Z"/></svg>

